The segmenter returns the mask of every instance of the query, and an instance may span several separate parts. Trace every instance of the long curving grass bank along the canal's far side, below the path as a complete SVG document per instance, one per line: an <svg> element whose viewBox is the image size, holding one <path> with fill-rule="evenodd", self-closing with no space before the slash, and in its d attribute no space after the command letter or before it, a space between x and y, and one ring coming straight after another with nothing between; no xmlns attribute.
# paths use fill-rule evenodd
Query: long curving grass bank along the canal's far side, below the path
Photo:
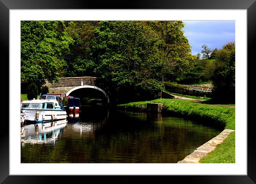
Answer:
<svg viewBox="0 0 256 184"><path fill-rule="evenodd" d="M196 118L223 126L225 129L235 130L235 108L215 106L210 104L196 103L184 99L155 99L144 102L131 102L119 104L118 108L126 108L133 111L146 111L147 103L163 103L163 113L169 113L174 116L183 116Z"/></svg>

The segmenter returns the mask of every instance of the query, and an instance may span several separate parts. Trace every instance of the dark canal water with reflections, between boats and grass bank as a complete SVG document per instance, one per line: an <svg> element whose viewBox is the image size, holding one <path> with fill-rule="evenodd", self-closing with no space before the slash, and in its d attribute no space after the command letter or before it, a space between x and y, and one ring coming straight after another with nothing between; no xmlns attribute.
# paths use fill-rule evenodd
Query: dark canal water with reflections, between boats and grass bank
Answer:
<svg viewBox="0 0 256 184"><path fill-rule="evenodd" d="M21 163L177 163L223 128L160 113L82 108L67 121L25 125Z"/></svg>

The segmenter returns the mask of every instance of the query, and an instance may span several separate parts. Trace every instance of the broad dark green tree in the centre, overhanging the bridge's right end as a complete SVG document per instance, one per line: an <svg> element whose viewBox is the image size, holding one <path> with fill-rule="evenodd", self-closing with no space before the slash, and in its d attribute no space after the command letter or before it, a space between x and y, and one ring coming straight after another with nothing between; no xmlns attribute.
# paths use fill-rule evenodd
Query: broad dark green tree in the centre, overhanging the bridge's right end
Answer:
<svg viewBox="0 0 256 184"><path fill-rule="evenodd" d="M97 63L94 71L99 77L112 81L117 90L125 86L149 89L151 82L142 81L156 77L153 68L158 51L151 27L139 21L102 21L93 41L92 56Z"/></svg>

